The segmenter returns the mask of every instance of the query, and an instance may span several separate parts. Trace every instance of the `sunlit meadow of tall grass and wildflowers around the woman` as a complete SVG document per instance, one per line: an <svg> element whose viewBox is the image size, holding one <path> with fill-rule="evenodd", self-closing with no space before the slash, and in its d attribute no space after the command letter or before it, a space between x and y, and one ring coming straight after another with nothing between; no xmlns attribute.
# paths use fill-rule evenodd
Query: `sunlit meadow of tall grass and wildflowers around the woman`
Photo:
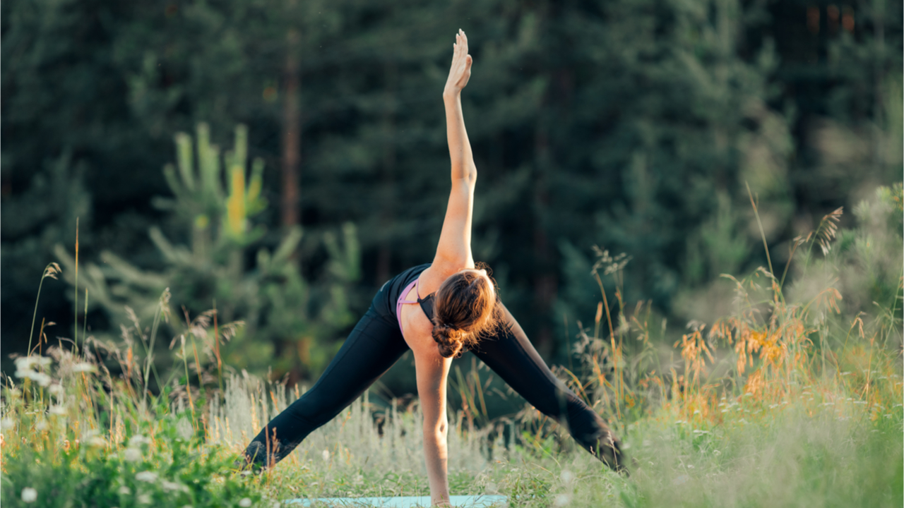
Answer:
<svg viewBox="0 0 904 508"><path fill-rule="evenodd" d="M574 368L556 372L617 430L631 475L612 473L529 407L488 419L486 384L472 367L450 379L463 401L450 422L451 494L505 494L518 507L904 504L904 278L875 277L877 256L900 258L899 240L880 252L862 248L881 243L875 231L842 231L850 248L833 249L839 214L793 242L805 259L789 261L781 278L760 268L727 279L734 312L692 322L676 341L651 325L649 306L623 302L628 259L599 250L595 323L579 335ZM814 278L826 270L841 275ZM854 293L857 280L885 298L872 315L844 306L838 287ZM233 461L250 437L304 389L222 365L220 342L238 324L213 312L186 320L171 344L182 365L160 371L164 380L150 352L168 305L162 296L151 327L134 318L120 343L83 337L79 353L44 346L39 330L38 351L4 381L5 504L246 508L428 494L418 404L386 409L367 394L268 474L239 474Z"/></svg>

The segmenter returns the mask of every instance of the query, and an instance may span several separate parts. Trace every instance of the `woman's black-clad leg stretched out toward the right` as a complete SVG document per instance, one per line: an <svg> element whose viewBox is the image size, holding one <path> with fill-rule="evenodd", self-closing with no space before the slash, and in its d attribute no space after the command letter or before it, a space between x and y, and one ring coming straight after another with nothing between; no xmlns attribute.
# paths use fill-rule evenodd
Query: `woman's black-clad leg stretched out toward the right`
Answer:
<svg viewBox="0 0 904 508"><path fill-rule="evenodd" d="M504 323L473 353L541 413L565 420L571 436L607 466L624 470L618 440L599 415L552 374L521 325L503 306Z"/></svg>

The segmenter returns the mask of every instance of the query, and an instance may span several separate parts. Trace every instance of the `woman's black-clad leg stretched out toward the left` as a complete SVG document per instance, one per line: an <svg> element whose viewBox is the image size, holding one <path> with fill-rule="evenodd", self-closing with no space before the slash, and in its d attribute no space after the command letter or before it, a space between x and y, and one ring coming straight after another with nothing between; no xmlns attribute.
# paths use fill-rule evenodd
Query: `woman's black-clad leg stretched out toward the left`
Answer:
<svg viewBox="0 0 904 508"><path fill-rule="evenodd" d="M315 428L348 407L408 349L399 323L371 307L311 390L251 441L245 450L246 463L267 467L282 460Z"/></svg>

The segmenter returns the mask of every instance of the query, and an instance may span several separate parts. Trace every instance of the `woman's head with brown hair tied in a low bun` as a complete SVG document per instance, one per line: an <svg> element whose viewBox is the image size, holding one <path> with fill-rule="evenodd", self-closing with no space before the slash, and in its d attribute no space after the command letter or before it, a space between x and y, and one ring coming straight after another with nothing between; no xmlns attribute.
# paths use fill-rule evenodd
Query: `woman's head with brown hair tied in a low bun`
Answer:
<svg viewBox="0 0 904 508"><path fill-rule="evenodd" d="M476 343L496 322L496 290L484 269L457 272L443 281L433 299L433 340L446 358L459 355L465 344Z"/></svg>

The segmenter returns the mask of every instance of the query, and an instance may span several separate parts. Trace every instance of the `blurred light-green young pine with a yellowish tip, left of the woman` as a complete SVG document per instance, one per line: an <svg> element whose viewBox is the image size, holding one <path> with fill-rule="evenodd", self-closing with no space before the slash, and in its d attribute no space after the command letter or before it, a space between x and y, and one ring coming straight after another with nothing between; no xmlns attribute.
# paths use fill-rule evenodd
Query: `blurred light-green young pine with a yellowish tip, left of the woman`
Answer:
<svg viewBox="0 0 904 508"><path fill-rule="evenodd" d="M341 240L325 234L327 269L315 281L306 280L299 269L300 228L279 235L275 249L254 252L266 229L252 220L267 202L261 195L263 161L255 159L248 176L247 140L247 128L236 127L232 149L221 155L205 124L197 128L194 147L191 136L176 135L178 163L164 168L174 197L156 198L155 205L188 233L190 243L175 243L152 227L149 234L164 260L163 271L137 268L105 250L102 265L85 263L80 291L87 290L89 307L102 308L112 322L135 321L129 309L137 320L159 314L159 296L168 291L185 313L170 317L167 296L163 326L169 334L184 333L192 328L193 316L214 309L220 325L241 320L234 336L216 338L229 341L218 354L231 365L258 372L268 365L277 372L303 367L307 375L316 375L337 347L335 335L353 320L348 295L360 278L355 228L345 224ZM66 280L74 284L75 259L62 246L56 254ZM276 347L289 353L274 362Z"/></svg>

